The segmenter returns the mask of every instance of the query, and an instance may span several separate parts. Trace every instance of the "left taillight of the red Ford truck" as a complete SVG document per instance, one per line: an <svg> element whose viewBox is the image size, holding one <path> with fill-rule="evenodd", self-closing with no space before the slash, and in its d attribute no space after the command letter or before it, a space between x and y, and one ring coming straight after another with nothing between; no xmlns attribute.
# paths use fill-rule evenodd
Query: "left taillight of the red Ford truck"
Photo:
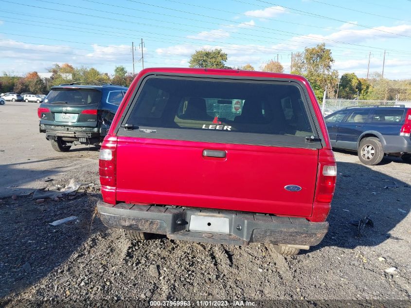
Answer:
<svg viewBox="0 0 411 308"><path fill-rule="evenodd" d="M109 138L102 144L98 163L102 186L116 186L116 147L117 142L110 141Z"/></svg>

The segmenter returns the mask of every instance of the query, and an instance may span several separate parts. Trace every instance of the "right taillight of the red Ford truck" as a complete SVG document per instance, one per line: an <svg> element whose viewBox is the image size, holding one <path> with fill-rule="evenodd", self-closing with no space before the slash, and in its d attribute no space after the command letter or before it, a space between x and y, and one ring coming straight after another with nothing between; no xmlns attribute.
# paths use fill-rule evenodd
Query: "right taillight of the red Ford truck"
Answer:
<svg viewBox="0 0 411 308"><path fill-rule="evenodd" d="M331 203L337 179L337 165L320 164L315 202Z"/></svg>

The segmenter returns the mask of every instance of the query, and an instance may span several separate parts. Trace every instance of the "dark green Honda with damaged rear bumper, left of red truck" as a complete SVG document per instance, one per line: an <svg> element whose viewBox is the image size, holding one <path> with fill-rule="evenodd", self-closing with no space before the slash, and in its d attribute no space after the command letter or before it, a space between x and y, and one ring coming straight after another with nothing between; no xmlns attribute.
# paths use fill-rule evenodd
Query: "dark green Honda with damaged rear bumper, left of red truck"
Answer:
<svg viewBox="0 0 411 308"><path fill-rule="evenodd" d="M100 83L54 86L38 108L40 132L57 152L73 145L99 147L126 91Z"/></svg>

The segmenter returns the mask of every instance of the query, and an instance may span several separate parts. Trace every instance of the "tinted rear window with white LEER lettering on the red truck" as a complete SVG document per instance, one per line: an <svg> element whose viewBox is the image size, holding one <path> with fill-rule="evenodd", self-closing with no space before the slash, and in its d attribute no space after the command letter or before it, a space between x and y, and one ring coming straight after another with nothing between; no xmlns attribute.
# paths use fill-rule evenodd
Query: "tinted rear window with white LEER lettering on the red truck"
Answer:
<svg viewBox="0 0 411 308"><path fill-rule="evenodd" d="M296 83L151 77L126 124L288 136L313 134Z"/></svg>

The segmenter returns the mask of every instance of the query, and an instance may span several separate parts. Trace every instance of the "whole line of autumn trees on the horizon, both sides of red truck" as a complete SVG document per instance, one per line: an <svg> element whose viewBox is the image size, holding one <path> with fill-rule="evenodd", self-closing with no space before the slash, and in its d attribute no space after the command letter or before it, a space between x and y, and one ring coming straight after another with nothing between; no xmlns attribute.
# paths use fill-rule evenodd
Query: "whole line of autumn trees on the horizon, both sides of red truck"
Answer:
<svg viewBox="0 0 411 308"><path fill-rule="evenodd" d="M197 50L188 61L191 68L215 68L255 71L255 68L246 63L239 67L226 65L228 54L222 49ZM344 73L339 78L339 72L333 69L334 58L331 50L325 44L315 47L306 47L303 52L298 52L291 59L290 72L299 74L308 79L317 99L321 102L325 88L327 98L362 99L362 100L411 100L411 80L389 80L383 78L378 72L371 77L359 78L354 72ZM262 72L283 73L284 67L270 59L258 68ZM52 73L50 78L41 79L36 72L30 72L24 77L0 77L0 91L47 93L51 86L75 82L102 82L128 87L135 74L127 72L124 66L116 66L114 75L100 72L91 67L74 67L69 63L54 64L48 69ZM68 78L70 74L72 78Z"/></svg>

